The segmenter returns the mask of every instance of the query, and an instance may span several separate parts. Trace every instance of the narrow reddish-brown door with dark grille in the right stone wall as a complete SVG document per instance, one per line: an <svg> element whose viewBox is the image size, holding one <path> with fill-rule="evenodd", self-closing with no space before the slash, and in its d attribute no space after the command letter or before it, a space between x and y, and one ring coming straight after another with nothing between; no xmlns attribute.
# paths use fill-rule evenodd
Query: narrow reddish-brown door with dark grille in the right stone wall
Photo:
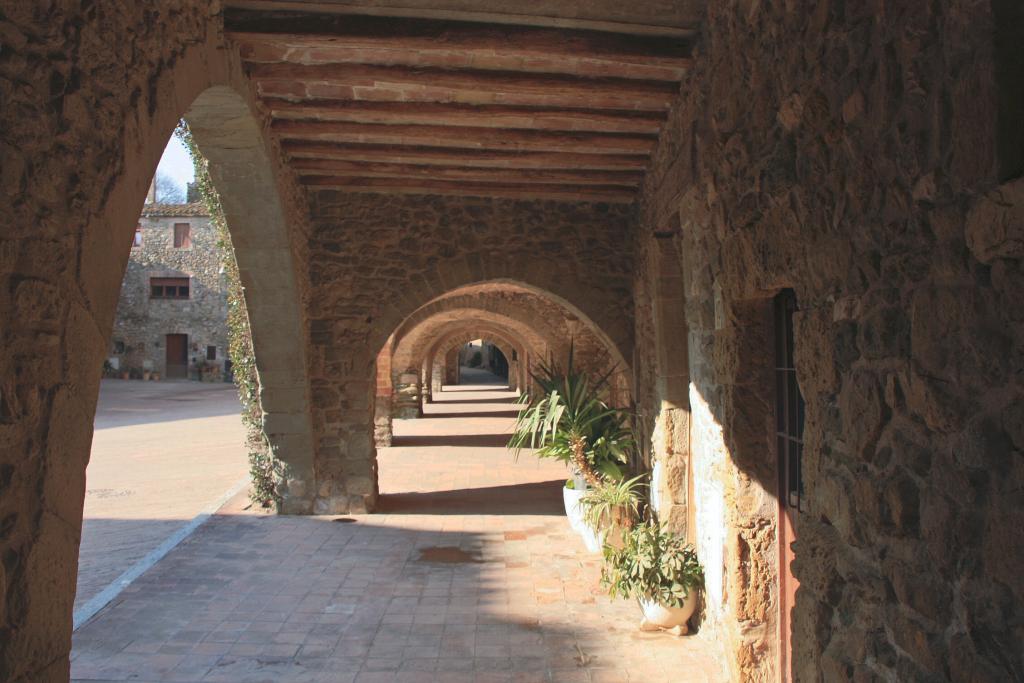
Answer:
<svg viewBox="0 0 1024 683"><path fill-rule="evenodd" d="M793 314L797 297L784 290L775 298L775 442L778 463L778 627L779 680L793 680L793 606L800 582L793 575L797 515L804 509L801 467L804 449L804 397L797 385Z"/></svg>

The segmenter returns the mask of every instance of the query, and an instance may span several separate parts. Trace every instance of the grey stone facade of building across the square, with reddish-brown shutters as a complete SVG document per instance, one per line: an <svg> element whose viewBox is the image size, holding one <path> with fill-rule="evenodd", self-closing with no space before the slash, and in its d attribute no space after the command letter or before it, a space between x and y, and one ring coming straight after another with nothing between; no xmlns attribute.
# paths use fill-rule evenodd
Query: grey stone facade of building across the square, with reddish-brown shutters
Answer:
<svg viewBox="0 0 1024 683"><path fill-rule="evenodd" d="M174 225L189 225L191 246L174 246ZM142 243L133 246L112 337L112 358L122 370L138 369L167 377L166 336L188 335L189 369L197 361L214 366L227 359L227 284L220 271L216 230L197 205L150 206L139 219ZM187 276L188 299L154 299L151 278ZM207 347L215 357L207 358ZM119 351L123 347L123 351Z"/></svg>

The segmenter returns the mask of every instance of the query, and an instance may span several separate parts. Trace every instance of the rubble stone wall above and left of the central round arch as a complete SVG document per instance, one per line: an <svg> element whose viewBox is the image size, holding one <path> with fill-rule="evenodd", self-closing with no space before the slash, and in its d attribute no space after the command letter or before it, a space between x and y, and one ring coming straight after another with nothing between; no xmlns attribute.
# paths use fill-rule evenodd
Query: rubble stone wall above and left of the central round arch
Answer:
<svg viewBox="0 0 1024 683"><path fill-rule="evenodd" d="M311 196L310 212L315 512L373 507L374 360L437 297L514 282L588 316L632 352L630 207L325 190Z"/></svg>

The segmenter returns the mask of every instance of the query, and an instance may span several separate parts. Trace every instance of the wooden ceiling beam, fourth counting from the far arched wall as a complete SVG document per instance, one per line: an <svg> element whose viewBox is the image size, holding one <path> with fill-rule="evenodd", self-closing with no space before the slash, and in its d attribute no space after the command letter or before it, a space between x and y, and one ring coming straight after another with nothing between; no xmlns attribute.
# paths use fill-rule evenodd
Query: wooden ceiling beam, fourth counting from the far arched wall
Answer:
<svg viewBox="0 0 1024 683"><path fill-rule="evenodd" d="M617 133L566 133L549 130L504 130L458 126L381 125L324 121L274 121L271 132L286 139L406 144L470 150L535 150L604 154L649 154L656 137Z"/></svg>

